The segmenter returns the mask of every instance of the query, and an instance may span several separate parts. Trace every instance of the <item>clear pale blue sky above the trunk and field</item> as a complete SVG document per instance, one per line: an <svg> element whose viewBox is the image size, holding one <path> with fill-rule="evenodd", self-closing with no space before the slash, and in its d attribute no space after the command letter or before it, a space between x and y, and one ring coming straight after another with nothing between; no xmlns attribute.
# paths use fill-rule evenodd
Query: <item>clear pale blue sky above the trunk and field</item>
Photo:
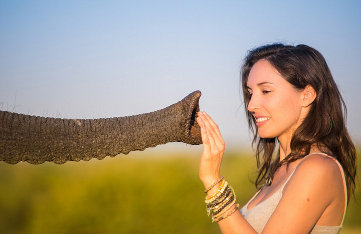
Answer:
<svg viewBox="0 0 361 234"><path fill-rule="evenodd" d="M272 42L319 50L361 142L359 1L0 0L0 105L63 118L161 109L201 90L228 145L250 146L239 72Z"/></svg>

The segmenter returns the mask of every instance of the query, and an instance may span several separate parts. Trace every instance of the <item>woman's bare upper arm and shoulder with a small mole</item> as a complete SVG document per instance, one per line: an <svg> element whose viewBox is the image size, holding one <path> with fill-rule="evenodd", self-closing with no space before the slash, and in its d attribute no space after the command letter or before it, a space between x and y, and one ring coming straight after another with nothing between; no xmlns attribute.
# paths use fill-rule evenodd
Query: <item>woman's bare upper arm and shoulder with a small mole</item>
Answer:
<svg viewBox="0 0 361 234"><path fill-rule="evenodd" d="M330 208L321 225L338 226L343 217L344 191L338 165L323 155L302 160L286 184L265 233L308 233Z"/></svg>

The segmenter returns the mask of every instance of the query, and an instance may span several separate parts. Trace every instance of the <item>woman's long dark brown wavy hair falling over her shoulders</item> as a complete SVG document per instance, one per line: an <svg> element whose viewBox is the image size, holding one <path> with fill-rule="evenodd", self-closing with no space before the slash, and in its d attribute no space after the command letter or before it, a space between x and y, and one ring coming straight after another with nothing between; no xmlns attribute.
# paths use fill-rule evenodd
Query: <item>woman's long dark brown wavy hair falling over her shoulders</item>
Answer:
<svg viewBox="0 0 361 234"><path fill-rule="evenodd" d="M310 85L316 91L316 99L301 125L291 139L292 157L288 163L303 158L311 146L326 147L331 156L342 165L345 172L347 196L354 194L356 176L356 150L346 128L346 105L332 78L323 56L315 49L306 46L271 44L249 51L241 71L243 98L248 125L253 132L253 145L256 146L258 176L256 187L263 184L267 171L273 163L276 138L260 138L252 113L247 110L250 95L247 91L248 75L252 66L259 60L267 60L295 89L302 90ZM329 152L327 152L329 154ZM261 160L262 159L262 160Z"/></svg>

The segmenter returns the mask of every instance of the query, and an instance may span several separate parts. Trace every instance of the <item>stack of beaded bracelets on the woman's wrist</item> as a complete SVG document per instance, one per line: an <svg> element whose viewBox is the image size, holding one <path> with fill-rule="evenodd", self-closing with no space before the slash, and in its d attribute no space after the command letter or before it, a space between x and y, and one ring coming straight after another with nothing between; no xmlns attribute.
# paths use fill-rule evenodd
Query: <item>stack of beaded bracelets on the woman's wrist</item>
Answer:
<svg viewBox="0 0 361 234"><path fill-rule="evenodd" d="M228 185L223 176L207 188L205 193L219 182L221 182L221 185L218 190L210 196L207 195L205 200L208 216L212 213L212 222L218 222L231 216L239 208L239 204L236 204L235 208L230 211L231 207L236 203L236 196L233 188Z"/></svg>

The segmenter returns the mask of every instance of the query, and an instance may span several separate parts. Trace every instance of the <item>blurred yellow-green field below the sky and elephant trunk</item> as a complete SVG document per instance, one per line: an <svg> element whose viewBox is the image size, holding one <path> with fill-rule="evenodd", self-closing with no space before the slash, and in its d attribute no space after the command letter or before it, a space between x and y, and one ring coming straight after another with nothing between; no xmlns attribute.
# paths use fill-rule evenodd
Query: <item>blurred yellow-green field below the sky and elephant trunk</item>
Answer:
<svg viewBox="0 0 361 234"><path fill-rule="evenodd" d="M145 150L63 165L0 162L0 233L219 233L206 213L199 158ZM224 156L222 174L241 205L256 191L255 168L244 153ZM354 200L341 233L361 233Z"/></svg>

